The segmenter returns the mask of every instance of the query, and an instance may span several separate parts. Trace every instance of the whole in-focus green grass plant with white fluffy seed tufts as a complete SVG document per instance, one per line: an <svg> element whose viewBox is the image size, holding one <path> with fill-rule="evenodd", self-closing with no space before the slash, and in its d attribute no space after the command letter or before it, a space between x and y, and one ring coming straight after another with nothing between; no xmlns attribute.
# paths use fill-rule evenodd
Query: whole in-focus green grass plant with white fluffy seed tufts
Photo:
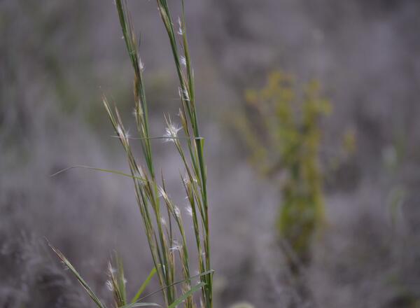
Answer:
<svg viewBox="0 0 420 308"><path fill-rule="evenodd" d="M158 10L162 22L169 37L169 43L174 57L176 73L179 78L179 97L181 106L179 119L181 126L178 127L170 117L165 117L167 129L163 137L152 137L148 118L148 103L144 87L144 64L141 62L137 38L134 34L132 19L127 8L126 0L116 0L116 8L128 55L134 70L134 116L137 124L138 137L129 137L120 114L116 107L109 104L106 97L103 98L106 112L113 125L120 144L127 155L130 173L97 169L111 172L122 176L129 176L134 182L134 190L137 204L141 212L144 230L151 251L151 257L155 265L153 274L156 273L160 283L165 305L176 307L184 303L184 307L197 307L193 293L201 289L200 307L211 308L213 270L210 262L209 241L209 210L207 201L207 175L204 162L204 139L200 135L197 109L195 105L194 75L188 50L186 19L184 3L182 1L182 15L176 22L172 20L169 6L166 0L158 0ZM180 132L183 133L181 137ZM181 182L188 200L188 214L195 235L195 250L198 259L200 283L193 286L192 269L190 262L190 250L186 240L183 217L179 207L167 194L165 180L162 174L156 174L153 160L153 139L163 139L174 144L176 151L181 157L185 176L181 176ZM131 143L138 142L141 145L142 161L134 153ZM143 163L142 163L143 162ZM83 167L83 166L81 166ZM167 219L165 219L167 218ZM87 290L92 300L98 307L105 307L85 281L71 266L64 255L53 248L59 258L66 264L71 272ZM116 272L110 267L109 287L113 290L116 307L139 307L156 305L154 303L141 302L145 297L139 298L139 293L132 301L127 301L125 282L123 278L123 266L120 260L117 262ZM180 274L177 272L180 271ZM153 274L151 273L151 276ZM150 277L146 281L150 281ZM176 279L181 278L177 281ZM181 288L179 287L181 286Z"/></svg>

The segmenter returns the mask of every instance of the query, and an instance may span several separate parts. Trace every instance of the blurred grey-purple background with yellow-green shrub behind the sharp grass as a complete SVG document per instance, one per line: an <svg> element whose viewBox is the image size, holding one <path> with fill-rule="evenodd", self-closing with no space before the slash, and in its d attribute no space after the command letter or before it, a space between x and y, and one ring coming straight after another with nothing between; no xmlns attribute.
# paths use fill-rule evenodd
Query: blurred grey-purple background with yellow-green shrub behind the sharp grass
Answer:
<svg viewBox="0 0 420 308"><path fill-rule="evenodd" d="M160 136L172 55L154 1L129 2ZM216 307L419 307L419 1L187 4ZM0 34L0 307L90 307L43 237L105 299L114 249L134 285L151 269L130 179L50 178L126 168L101 102L134 127L115 6L3 0ZM153 146L181 204L176 153Z"/></svg>

